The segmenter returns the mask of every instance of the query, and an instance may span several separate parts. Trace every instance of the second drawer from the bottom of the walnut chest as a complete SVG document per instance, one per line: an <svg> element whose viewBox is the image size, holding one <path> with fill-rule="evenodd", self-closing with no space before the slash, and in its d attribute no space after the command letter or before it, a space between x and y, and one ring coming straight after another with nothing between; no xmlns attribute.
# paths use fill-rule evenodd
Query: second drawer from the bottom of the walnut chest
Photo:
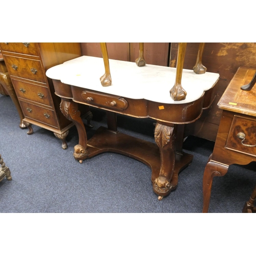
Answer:
<svg viewBox="0 0 256 256"><path fill-rule="evenodd" d="M23 99L32 100L40 104L52 106L52 100L47 87L12 79L16 95Z"/></svg>

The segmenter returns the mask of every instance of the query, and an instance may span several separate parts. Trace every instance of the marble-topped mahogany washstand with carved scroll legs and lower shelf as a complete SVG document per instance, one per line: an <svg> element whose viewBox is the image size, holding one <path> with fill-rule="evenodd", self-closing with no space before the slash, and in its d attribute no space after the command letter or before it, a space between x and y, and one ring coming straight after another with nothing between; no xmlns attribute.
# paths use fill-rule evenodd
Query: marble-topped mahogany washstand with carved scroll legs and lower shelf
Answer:
<svg viewBox="0 0 256 256"><path fill-rule="evenodd" d="M169 90L170 84L175 83L176 69L109 61L113 84L108 87L100 82L104 74L102 58L82 56L46 73L53 79L55 94L61 98L63 115L77 127L79 142L74 147L74 158L82 162L103 152L115 152L140 160L151 167L153 190L161 200L177 187L179 172L193 159L182 151L184 124L196 121L203 108L210 105L219 74L197 75L193 70L183 70L187 96L175 101ZM208 89L202 89L200 83L208 84ZM108 128L100 127L87 140L78 103L106 110ZM116 113L156 120L156 144L118 132Z"/></svg>

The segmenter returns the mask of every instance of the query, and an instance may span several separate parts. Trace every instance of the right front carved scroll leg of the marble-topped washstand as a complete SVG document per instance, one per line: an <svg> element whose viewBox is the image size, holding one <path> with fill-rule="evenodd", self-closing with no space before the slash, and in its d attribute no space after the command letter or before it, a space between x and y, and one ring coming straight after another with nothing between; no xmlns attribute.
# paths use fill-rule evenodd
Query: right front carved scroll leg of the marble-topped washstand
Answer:
<svg viewBox="0 0 256 256"><path fill-rule="evenodd" d="M155 141L160 150L160 173L153 182L153 190L161 200L167 196L172 189L170 180L172 179L175 166L175 127L156 124Z"/></svg>

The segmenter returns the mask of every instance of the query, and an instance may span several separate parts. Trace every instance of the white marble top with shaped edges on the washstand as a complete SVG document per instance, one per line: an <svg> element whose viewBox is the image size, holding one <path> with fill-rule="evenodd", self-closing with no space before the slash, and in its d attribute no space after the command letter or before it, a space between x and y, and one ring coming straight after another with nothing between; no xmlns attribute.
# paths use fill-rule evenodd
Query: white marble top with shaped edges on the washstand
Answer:
<svg viewBox="0 0 256 256"><path fill-rule="evenodd" d="M103 58L81 56L47 70L49 78L84 89L131 99L147 99L167 104L182 104L199 99L204 91L214 86L219 74L195 74L183 69L181 84L187 92L185 100L174 101L170 89L174 86L176 68L147 65L110 59L112 85L102 87L100 77L105 73Z"/></svg>

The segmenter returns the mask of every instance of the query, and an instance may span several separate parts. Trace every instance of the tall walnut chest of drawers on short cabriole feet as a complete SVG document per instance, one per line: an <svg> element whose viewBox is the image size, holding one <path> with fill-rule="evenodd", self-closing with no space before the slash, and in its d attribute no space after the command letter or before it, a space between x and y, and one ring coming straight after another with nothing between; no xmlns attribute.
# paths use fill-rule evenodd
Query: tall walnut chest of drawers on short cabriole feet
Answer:
<svg viewBox="0 0 256 256"><path fill-rule="evenodd" d="M73 122L60 112L60 98L54 94L52 80L46 71L64 61L81 56L79 43L1 42L6 63L28 134L31 124L48 129L67 148L66 137ZM89 108L87 109L89 112Z"/></svg>

